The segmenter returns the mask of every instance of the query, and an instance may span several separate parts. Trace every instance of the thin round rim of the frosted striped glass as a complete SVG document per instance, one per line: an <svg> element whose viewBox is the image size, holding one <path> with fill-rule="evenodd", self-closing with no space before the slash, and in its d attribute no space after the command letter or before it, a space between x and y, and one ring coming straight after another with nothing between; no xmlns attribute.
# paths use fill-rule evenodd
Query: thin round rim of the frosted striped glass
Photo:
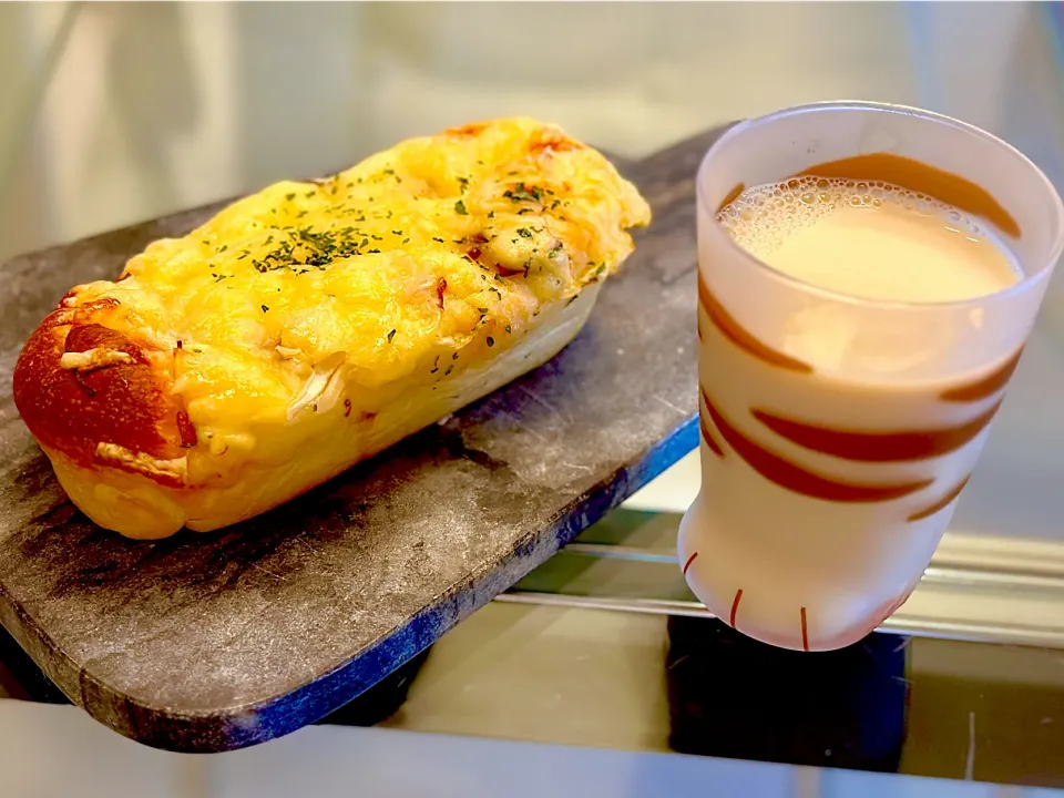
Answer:
<svg viewBox="0 0 1064 798"><path fill-rule="evenodd" d="M1010 286L1002 288L1001 290L994 291L993 294L983 294L976 297L969 297L965 299L944 299L939 301L903 301L898 299L873 299L868 297L861 297L853 294L843 294L842 291L832 290L830 288L823 288L821 286L814 285L812 283L807 283L806 280L794 277L785 272L781 272L769 264L761 260L756 255L751 255L749 252L739 246L735 239L728 235L724 225L717 221L717 214L710 207L708 201L705 196L705 176L709 170L710 162L714 156L720 150L723 145L730 142L732 140L738 137L746 131L766 122L774 120L785 119L787 116L792 116L800 113L809 113L816 111L825 110L866 110L866 111L878 111L886 113L900 113L910 116L919 116L921 119L928 120L929 122L935 122L939 124L945 124L952 127L956 127L961 131L975 135L983 141L990 142L996 146L1002 147L1004 151L1010 153L1016 161L1020 162L1025 168L1033 172L1037 178L1042 182L1045 187L1048 196L1052 198L1053 205L1055 207L1055 216L1057 219L1057 229L1056 236L1053 241L1051 247L1051 255L1046 264L1044 264L1037 272L1032 275L1024 274L1023 278L1016 283L1013 283ZM822 299L828 299L835 303L847 304L847 305L859 305L864 307L877 307L883 309L942 309L942 310L958 310L964 309L966 307L986 307L986 303L998 303L1012 296L1021 295L1027 291L1032 286L1039 284L1041 280L1046 279L1047 275L1052 273L1052 268L1055 263L1060 259L1062 252L1064 252L1064 201L1062 201L1060 192L1056 191L1056 186L1050 181L1045 173L1035 164L1031 158L1024 155L1020 150L1010 144L1003 139L995 136L993 133L990 133L982 127L976 127L973 124L968 122L962 122L961 120L954 119L952 116L947 116L945 114L935 113L934 111L928 111L925 109L918 109L911 105L900 105L896 103L883 103L883 102L872 102L868 100L823 100L818 102L805 103L801 105L791 105L789 108L780 109L778 111L773 111L768 114L763 114L760 116L751 116L745 119L740 122L736 122L730 127L728 127L717 140L709 145L709 149L703 155L702 163L698 166L698 171L695 175L695 196L698 203L699 211L705 209L709 213L710 222L714 227L724 236L727 241L727 245L732 247L741 259L750 263L755 268L760 272L764 272L769 278L778 280L785 285L795 287L796 289L806 293L819 296ZM1012 253L1010 253L1012 254ZM702 266L699 265L699 270Z"/></svg>

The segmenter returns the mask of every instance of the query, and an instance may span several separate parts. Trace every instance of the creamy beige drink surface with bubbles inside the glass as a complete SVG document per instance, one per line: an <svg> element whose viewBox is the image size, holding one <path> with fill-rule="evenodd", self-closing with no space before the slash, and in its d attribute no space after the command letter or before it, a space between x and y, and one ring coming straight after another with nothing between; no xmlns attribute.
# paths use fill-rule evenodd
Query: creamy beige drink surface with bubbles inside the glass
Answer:
<svg viewBox="0 0 1064 798"><path fill-rule="evenodd" d="M804 176L754 186L717 218L769 266L850 296L947 301L1022 277L990 225L882 181Z"/></svg>

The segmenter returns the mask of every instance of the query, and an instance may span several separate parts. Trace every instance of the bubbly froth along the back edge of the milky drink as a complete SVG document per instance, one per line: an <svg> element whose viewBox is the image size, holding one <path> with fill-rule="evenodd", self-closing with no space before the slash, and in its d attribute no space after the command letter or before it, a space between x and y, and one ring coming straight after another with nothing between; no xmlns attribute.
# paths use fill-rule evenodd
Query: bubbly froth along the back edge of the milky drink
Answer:
<svg viewBox="0 0 1064 798"><path fill-rule="evenodd" d="M841 208L884 205L941 216L942 223L981 236L975 221L952 205L884 181L808 175L747 188L717 214L735 242L755 257L764 257L802 227Z"/></svg>

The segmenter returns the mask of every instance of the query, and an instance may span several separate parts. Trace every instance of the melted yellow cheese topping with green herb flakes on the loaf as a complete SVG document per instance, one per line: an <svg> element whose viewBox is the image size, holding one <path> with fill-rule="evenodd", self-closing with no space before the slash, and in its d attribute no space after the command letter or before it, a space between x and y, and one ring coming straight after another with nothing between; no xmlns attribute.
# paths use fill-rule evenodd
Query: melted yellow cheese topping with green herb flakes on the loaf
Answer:
<svg viewBox="0 0 1064 798"><path fill-rule="evenodd" d="M613 274L633 248L626 228L648 221L600 153L502 120L272 185L74 296L119 299L119 324L173 348L201 444L249 451L256 428L316 411L339 368L356 408L376 412L389 387L505 348L541 308Z"/></svg>

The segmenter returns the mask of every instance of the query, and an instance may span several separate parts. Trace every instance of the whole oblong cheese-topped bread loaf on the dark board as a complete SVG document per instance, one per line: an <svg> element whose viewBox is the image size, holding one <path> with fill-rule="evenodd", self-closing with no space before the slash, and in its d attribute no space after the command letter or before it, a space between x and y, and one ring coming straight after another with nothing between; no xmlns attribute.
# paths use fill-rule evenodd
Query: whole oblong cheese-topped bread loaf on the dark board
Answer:
<svg viewBox="0 0 1064 798"><path fill-rule="evenodd" d="M553 125L409 140L73 288L25 344L14 401L98 524L226 526L552 358L649 215Z"/></svg>

